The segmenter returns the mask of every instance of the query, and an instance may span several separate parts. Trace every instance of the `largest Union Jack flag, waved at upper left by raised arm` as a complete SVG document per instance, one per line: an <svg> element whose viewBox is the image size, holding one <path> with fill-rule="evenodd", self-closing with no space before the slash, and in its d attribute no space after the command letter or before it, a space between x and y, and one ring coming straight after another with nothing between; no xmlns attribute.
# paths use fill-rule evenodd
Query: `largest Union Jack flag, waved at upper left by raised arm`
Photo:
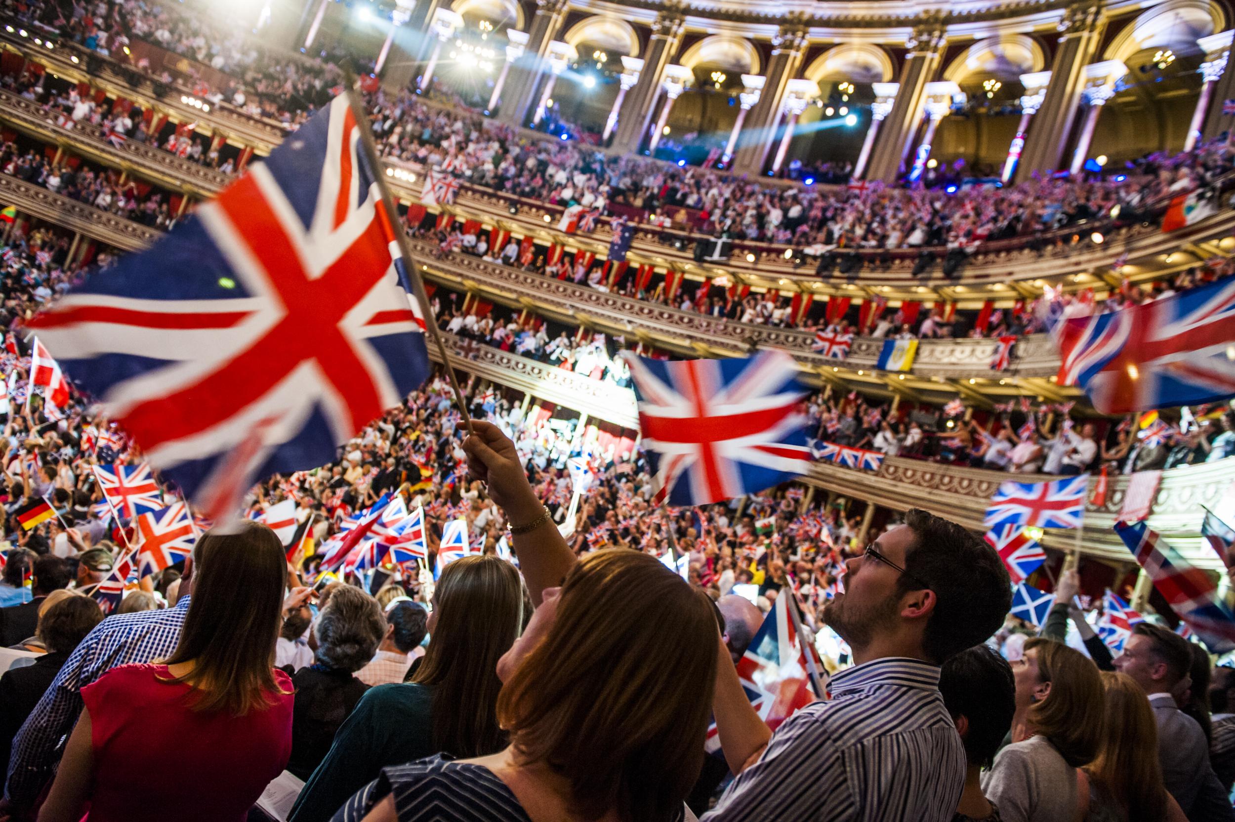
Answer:
<svg viewBox="0 0 1235 822"><path fill-rule="evenodd" d="M30 323L207 516L236 488L331 462L429 374L359 127L336 98L148 252Z"/></svg>

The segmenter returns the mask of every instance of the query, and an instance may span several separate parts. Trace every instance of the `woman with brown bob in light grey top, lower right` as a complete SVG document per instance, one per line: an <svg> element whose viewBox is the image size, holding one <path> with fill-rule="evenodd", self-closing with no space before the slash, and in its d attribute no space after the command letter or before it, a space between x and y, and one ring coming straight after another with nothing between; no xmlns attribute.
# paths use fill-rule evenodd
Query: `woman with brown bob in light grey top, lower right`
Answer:
<svg viewBox="0 0 1235 822"><path fill-rule="evenodd" d="M1093 762L1102 738L1098 668L1063 643L1035 637L1011 669L1013 744L995 757L982 791L1003 822L1083 820L1089 791L1081 790L1077 769Z"/></svg>

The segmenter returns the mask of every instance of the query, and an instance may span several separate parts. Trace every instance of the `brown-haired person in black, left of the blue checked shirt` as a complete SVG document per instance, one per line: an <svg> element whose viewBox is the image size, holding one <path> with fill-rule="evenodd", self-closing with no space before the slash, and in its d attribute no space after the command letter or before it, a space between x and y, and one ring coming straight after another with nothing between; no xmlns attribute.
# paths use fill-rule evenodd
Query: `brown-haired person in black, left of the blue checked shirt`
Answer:
<svg viewBox="0 0 1235 822"><path fill-rule="evenodd" d="M51 601L52 597L44 600ZM101 621L98 602L68 591L40 615L37 636L47 653L33 665L12 668L0 676L0 773L9 773L9 750L17 728L35 710L73 649Z"/></svg>

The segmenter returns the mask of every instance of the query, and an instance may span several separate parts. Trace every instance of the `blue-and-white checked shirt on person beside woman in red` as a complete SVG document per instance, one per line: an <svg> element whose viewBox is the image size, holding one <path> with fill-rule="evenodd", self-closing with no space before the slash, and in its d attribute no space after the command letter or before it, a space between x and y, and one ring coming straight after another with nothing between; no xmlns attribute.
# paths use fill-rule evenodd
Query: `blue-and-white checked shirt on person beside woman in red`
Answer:
<svg viewBox="0 0 1235 822"><path fill-rule="evenodd" d="M5 797L28 807L56 771L61 741L82 713L82 687L117 665L170 657L180 641L189 597L174 608L107 617L69 655L12 741Z"/></svg>

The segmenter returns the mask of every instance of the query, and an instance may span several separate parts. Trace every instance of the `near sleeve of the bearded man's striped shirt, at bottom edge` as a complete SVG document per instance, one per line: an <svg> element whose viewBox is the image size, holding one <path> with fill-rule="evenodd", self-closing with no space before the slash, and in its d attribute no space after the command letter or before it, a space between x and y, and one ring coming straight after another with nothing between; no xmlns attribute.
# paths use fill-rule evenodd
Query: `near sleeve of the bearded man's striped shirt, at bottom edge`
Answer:
<svg viewBox="0 0 1235 822"><path fill-rule="evenodd" d="M853 820L856 803L847 770L829 734L806 712L785 720L760 760L739 774L703 822L751 820Z"/></svg>

